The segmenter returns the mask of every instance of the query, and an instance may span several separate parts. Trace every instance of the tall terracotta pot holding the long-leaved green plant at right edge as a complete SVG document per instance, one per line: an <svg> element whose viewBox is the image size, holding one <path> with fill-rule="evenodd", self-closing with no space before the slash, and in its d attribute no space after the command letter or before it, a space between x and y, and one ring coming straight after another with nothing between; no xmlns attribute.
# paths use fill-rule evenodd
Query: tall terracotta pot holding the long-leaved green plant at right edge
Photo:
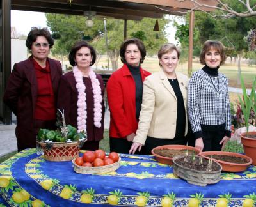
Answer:
<svg viewBox="0 0 256 207"><path fill-rule="evenodd" d="M248 132L256 136L256 132ZM246 137L246 132L240 135L241 142L244 146L244 154L252 158L252 164L256 165L256 139Z"/></svg>

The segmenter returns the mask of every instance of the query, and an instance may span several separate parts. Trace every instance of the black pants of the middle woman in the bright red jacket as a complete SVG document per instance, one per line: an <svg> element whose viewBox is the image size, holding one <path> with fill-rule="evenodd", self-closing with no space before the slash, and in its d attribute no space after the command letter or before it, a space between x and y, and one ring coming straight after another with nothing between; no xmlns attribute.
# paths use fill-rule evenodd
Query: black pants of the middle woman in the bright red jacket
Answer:
<svg viewBox="0 0 256 207"><path fill-rule="evenodd" d="M115 151L116 153L128 154L132 143L125 138L109 137L110 151ZM143 152L137 150L135 154L143 155Z"/></svg>

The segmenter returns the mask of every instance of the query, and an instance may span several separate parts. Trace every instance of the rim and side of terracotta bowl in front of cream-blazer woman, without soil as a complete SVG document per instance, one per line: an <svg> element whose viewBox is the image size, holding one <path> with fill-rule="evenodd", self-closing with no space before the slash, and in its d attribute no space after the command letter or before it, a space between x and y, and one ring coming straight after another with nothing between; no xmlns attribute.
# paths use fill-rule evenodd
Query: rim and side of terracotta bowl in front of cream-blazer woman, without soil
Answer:
<svg viewBox="0 0 256 207"><path fill-rule="evenodd" d="M172 157L163 157L161 155L157 155L154 153L154 150L161 150L161 149L171 149L171 150L193 150L195 151L195 155L198 155L200 153L199 150L192 146L186 146L186 145L178 145L178 144L170 144L170 145L162 145L162 146L157 146L156 148L153 148L151 150L152 155L156 157L157 162L163 163L163 164L168 164L172 165Z"/></svg>

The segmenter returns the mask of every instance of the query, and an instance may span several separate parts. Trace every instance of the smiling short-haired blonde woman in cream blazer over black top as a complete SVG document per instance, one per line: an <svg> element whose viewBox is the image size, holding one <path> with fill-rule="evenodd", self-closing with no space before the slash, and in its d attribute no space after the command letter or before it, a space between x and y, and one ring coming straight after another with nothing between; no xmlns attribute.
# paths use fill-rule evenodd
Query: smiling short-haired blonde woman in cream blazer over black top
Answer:
<svg viewBox="0 0 256 207"><path fill-rule="evenodd" d="M156 146L186 144L188 77L175 72L180 51L172 43L158 52L159 72L143 82L143 101L136 136L129 153L150 154Z"/></svg>

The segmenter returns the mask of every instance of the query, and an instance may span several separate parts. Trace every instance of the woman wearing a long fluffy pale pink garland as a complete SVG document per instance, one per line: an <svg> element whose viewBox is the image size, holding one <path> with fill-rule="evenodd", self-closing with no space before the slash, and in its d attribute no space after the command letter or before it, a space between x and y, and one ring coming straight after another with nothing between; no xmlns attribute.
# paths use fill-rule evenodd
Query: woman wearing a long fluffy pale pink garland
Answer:
<svg viewBox="0 0 256 207"><path fill-rule="evenodd" d="M104 85L100 75L93 72L96 52L85 41L77 42L69 54L71 72L61 77L58 109L64 109L66 124L87 132L83 150L99 149L104 129Z"/></svg>

